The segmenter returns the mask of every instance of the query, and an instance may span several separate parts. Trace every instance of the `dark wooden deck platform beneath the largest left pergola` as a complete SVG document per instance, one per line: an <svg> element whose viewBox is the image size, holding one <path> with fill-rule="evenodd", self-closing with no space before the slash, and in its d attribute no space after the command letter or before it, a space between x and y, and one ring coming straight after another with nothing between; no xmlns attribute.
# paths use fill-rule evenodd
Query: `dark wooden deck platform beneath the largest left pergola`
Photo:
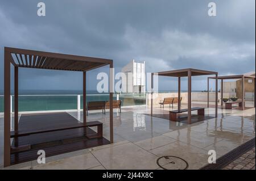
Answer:
<svg viewBox="0 0 256 181"><path fill-rule="evenodd" d="M19 131L48 130L69 125L72 127L75 124L80 125L81 123L67 112L23 114L19 120ZM38 150L46 151L46 157L50 157L110 143L104 137L89 139L85 136L85 131L86 135L96 134L96 132L87 127L14 138L12 146L31 145L31 150L12 153L11 165L37 159L39 156L37 154Z"/></svg>

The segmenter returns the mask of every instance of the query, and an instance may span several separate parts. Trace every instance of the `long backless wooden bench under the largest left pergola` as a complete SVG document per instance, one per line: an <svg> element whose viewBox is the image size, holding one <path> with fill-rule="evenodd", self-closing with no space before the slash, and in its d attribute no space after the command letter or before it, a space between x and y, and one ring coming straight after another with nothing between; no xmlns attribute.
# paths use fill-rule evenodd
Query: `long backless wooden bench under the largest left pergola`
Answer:
<svg viewBox="0 0 256 181"><path fill-rule="evenodd" d="M100 121L90 121L86 124L84 123L76 123L74 125L67 125L67 127L60 127L55 129L39 129L35 131L19 131L15 133L11 131L10 137L11 138L18 138L22 136L29 136L32 134L39 134L39 133L48 133L48 132L55 132L55 131L64 131L68 129L76 129L76 128L86 128L86 127L97 127L97 134L96 135L85 135L88 138L102 138L102 123ZM20 145L20 146L11 146L11 153L17 153L20 151L30 150L31 145Z"/></svg>

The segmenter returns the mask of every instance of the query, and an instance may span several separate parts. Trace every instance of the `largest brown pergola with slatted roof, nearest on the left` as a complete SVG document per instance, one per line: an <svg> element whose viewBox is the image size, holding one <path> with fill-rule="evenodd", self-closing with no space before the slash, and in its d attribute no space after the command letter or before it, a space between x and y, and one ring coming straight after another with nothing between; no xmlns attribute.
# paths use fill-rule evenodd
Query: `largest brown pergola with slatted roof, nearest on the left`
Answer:
<svg viewBox="0 0 256 181"><path fill-rule="evenodd" d="M19 68L82 71L83 73L83 123L86 125L86 71L109 65L110 142L113 143L113 60L71 54L40 52L36 50L5 47L4 60L4 166L10 166L10 95L11 64L14 66L14 132L18 133L18 70Z"/></svg>

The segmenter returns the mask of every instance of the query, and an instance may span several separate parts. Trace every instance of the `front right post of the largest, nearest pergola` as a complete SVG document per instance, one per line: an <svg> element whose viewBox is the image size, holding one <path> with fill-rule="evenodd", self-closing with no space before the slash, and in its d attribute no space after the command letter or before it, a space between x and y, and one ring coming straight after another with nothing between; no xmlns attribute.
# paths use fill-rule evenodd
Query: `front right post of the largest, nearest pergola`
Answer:
<svg viewBox="0 0 256 181"><path fill-rule="evenodd" d="M110 143L114 142L114 131L113 131L113 85L114 85L114 72L113 62L109 65L109 126L110 126Z"/></svg>

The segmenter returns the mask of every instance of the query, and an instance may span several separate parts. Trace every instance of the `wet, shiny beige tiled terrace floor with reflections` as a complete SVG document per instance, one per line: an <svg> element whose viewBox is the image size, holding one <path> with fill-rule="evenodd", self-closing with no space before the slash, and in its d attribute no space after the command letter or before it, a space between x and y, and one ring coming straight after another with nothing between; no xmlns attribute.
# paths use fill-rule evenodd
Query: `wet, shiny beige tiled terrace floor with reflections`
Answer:
<svg viewBox="0 0 256 181"><path fill-rule="evenodd" d="M171 109L154 108L154 112L168 113ZM82 120L82 112L68 113ZM148 113L150 108L146 107L114 112L114 144L56 155L46 158L46 164L32 161L7 169L161 169L156 161L165 155L184 159L188 169L200 169L208 164L209 150L221 157L255 137L255 108L219 109L218 118L190 125ZM214 108L206 108L205 114L214 117ZM89 113L88 121L94 120L104 124L104 137L109 138L109 113Z"/></svg>

